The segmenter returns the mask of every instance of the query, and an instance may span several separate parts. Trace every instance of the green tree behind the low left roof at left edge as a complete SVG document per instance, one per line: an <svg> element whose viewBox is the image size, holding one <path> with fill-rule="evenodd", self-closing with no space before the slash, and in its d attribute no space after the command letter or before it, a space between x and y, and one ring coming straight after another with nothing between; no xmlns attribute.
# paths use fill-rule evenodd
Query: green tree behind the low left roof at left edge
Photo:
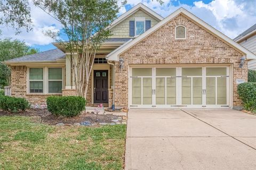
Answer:
<svg viewBox="0 0 256 170"><path fill-rule="evenodd" d="M10 60L29 54L35 54L38 49L31 48L20 40L3 39L0 40L0 62ZM10 85L11 71L7 65L0 63L0 88Z"/></svg>

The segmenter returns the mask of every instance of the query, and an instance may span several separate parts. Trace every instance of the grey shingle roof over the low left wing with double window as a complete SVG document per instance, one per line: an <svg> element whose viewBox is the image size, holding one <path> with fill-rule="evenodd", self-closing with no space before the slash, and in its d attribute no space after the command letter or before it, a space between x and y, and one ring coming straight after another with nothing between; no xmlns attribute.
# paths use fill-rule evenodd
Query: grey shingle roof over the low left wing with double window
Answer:
<svg viewBox="0 0 256 170"><path fill-rule="evenodd" d="M23 57L13 58L11 60L5 61L6 63L9 62L31 62L31 61L55 61L59 58L65 57L65 53L63 53L60 49L51 49L45 52L26 55Z"/></svg>

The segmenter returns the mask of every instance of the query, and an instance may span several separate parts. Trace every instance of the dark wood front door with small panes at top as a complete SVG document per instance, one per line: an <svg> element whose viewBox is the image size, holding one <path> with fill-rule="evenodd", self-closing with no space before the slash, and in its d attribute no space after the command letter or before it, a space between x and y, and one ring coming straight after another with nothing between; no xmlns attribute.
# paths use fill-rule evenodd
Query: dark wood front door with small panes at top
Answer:
<svg viewBox="0 0 256 170"><path fill-rule="evenodd" d="M108 70L94 70L94 103L108 103Z"/></svg>

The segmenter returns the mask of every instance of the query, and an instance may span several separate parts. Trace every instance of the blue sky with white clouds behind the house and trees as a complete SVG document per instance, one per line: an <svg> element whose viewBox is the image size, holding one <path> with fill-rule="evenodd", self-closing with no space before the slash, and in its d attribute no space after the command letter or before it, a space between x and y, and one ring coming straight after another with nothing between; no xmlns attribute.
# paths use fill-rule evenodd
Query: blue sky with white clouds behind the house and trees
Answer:
<svg viewBox="0 0 256 170"><path fill-rule="evenodd" d="M156 0L127 0L127 4L121 7L119 15L138 3L143 3L164 18L183 7L232 39L256 23L256 0L163 0L163 2L164 4L160 5ZM19 35L15 35L15 30L1 28L3 35L0 38L25 41L41 52L56 48L51 44L54 40L45 36L43 31L61 30L61 24L31 3L30 7L33 31L22 31Z"/></svg>

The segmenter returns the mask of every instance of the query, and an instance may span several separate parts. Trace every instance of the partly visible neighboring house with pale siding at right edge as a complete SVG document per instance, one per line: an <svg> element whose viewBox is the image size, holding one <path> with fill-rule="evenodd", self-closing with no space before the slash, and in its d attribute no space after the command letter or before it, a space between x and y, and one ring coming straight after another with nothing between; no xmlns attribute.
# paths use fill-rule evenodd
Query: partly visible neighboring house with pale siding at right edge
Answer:
<svg viewBox="0 0 256 170"><path fill-rule="evenodd" d="M237 36L234 41L256 54L256 24ZM248 69L256 70L256 60L248 62Z"/></svg>

